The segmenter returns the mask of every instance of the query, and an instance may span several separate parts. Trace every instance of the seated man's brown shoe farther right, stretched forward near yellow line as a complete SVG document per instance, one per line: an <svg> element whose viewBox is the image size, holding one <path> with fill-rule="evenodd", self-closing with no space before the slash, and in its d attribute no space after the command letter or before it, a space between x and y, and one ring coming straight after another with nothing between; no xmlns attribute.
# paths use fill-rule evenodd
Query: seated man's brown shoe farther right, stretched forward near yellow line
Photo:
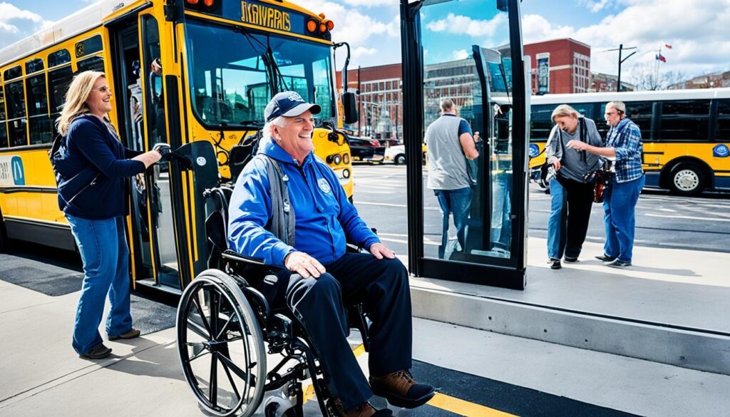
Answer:
<svg viewBox="0 0 730 417"><path fill-rule="evenodd" d="M417 383L409 370L400 370L379 377L370 376L370 387L375 395L388 399L396 407L416 408L434 397L434 387Z"/></svg>

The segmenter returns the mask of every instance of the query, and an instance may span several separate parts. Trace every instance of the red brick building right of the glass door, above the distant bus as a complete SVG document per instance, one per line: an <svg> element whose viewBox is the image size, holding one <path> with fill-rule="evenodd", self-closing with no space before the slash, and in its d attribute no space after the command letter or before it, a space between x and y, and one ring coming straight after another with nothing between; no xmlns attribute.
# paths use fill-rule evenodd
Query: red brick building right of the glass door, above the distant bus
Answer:
<svg viewBox="0 0 730 417"><path fill-rule="evenodd" d="M575 39L524 46L531 57L532 93L585 93L591 87L591 47Z"/></svg>

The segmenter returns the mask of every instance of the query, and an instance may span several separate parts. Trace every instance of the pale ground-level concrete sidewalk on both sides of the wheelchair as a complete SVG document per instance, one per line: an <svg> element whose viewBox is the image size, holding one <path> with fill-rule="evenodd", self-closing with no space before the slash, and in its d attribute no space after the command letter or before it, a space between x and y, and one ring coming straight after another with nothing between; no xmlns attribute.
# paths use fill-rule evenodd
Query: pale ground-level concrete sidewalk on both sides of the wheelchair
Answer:
<svg viewBox="0 0 730 417"><path fill-rule="evenodd" d="M70 347L77 297L0 282L1 416L203 415L183 380L174 329L110 342L108 360L79 359ZM645 416L730 413L726 375L434 321L414 327L415 359L440 367Z"/></svg>

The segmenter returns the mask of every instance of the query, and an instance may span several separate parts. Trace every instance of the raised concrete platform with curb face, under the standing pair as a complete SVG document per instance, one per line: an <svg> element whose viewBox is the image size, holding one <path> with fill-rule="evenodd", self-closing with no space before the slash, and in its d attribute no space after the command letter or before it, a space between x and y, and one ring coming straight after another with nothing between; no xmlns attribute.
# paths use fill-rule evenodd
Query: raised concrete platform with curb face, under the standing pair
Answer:
<svg viewBox="0 0 730 417"><path fill-rule="evenodd" d="M553 270L545 240L529 239L524 291L412 278L414 315L730 374L730 254L634 248L634 266L593 259Z"/></svg>

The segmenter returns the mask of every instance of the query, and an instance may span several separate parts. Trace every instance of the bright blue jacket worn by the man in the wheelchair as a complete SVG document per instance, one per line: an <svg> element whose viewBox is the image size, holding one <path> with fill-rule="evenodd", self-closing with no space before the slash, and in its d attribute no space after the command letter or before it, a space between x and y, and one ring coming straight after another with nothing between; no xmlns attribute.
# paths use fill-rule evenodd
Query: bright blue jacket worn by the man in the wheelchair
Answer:
<svg viewBox="0 0 730 417"><path fill-rule="evenodd" d="M350 204L337 174L309 153L301 167L274 140L261 139L258 153L279 161L289 177L289 199L296 226L294 247L265 228L272 217L271 188L266 163L254 159L239 175L228 214L228 247L265 264L284 267L284 258L295 250L330 264L345 254L346 241L364 248L380 242Z"/></svg>

